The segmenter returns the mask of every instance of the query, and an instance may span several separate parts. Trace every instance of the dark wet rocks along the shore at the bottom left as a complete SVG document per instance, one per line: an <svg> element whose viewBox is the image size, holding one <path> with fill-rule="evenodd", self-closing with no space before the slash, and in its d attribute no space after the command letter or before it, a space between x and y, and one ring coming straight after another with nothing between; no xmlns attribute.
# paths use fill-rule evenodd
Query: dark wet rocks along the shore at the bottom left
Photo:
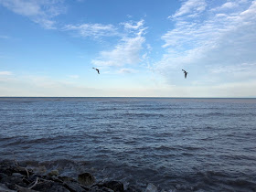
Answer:
<svg viewBox="0 0 256 192"><path fill-rule="evenodd" d="M16 160L0 161L0 191L2 192L135 192L141 191L136 187L123 187L120 181L97 182L90 173L81 173L77 179L69 176L59 176L58 170L46 170L38 173L27 165L21 165ZM157 188L149 184L145 192L156 192Z"/></svg>

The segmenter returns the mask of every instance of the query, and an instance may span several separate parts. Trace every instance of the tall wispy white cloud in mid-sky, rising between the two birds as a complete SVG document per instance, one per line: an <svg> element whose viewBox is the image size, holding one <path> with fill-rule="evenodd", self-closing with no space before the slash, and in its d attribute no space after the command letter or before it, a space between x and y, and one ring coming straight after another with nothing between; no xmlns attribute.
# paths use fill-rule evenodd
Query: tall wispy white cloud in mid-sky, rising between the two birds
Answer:
<svg viewBox="0 0 256 192"><path fill-rule="evenodd" d="M137 64L141 61L141 51L145 42L144 20L139 22L122 23L128 34L124 34L119 43L112 49L101 51L98 59L93 59L92 64L97 66L115 66Z"/></svg>

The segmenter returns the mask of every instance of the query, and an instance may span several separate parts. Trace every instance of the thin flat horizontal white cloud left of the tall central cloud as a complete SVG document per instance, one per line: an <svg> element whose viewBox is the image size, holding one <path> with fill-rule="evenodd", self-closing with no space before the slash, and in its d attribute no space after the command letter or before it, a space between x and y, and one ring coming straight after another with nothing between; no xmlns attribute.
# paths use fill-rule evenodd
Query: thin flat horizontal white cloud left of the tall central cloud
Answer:
<svg viewBox="0 0 256 192"><path fill-rule="evenodd" d="M81 37L111 37L117 35L117 30L112 25L102 24L81 24L81 25L67 25L64 30L77 31Z"/></svg>

